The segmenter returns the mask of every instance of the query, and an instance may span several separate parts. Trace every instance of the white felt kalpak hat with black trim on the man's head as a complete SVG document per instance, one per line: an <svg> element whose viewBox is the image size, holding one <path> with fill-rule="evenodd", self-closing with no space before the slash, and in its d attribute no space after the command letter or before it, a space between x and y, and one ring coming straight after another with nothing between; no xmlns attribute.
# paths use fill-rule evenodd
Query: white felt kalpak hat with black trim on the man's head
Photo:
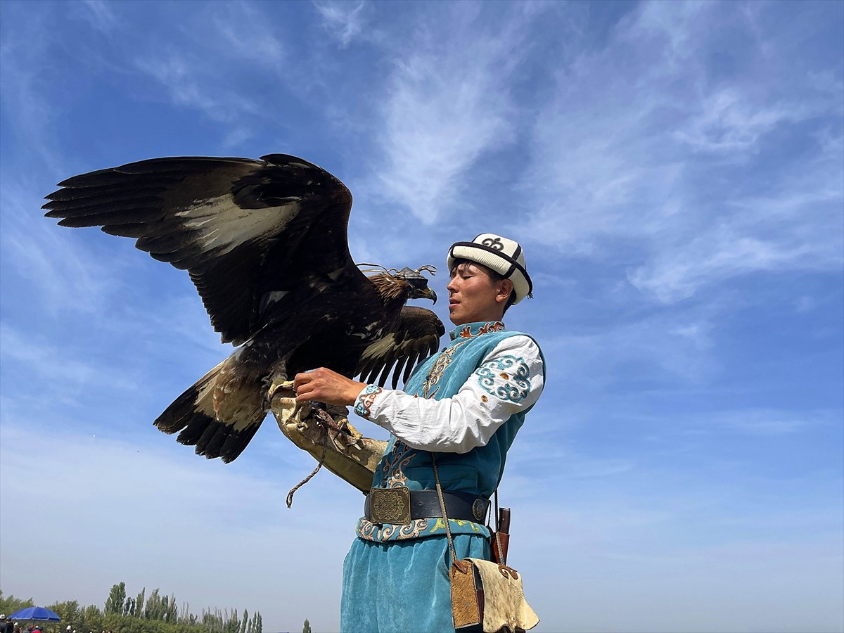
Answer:
<svg viewBox="0 0 844 633"><path fill-rule="evenodd" d="M448 249L448 269L454 268L456 259L468 259L495 270L504 279L513 282L517 304L525 297L533 299L533 282L525 268L525 256L517 241L495 233L481 233L473 241L458 241Z"/></svg>

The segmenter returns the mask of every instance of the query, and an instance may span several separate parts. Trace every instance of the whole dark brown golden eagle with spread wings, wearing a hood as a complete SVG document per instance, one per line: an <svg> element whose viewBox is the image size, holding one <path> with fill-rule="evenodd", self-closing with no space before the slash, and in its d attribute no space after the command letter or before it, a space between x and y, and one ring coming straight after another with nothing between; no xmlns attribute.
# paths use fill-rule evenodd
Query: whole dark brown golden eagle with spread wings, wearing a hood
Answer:
<svg viewBox="0 0 844 633"><path fill-rule="evenodd" d="M273 390L327 367L392 386L436 351L445 327L404 306L436 295L416 270L370 277L349 255L352 195L306 160L142 160L60 182L48 218L100 226L187 270L223 343L239 346L154 425L205 457L230 462L252 440ZM371 271L370 271L371 272Z"/></svg>

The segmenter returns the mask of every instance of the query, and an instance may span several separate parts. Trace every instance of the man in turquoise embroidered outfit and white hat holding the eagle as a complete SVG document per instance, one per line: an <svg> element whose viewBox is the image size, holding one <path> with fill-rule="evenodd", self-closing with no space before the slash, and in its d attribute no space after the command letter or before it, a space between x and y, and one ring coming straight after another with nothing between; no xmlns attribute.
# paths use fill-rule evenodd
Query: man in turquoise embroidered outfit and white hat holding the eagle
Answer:
<svg viewBox="0 0 844 633"><path fill-rule="evenodd" d="M447 262L448 311L457 328L441 354L415 368L404 392L324 368L295 376L297 402L353 405L392 433L344 562L344 631L453 630L452 558L434 467L457 559L489 560L489 499L544 387L538 344L501 322L533 289L521 246L482 234L452 245ZM393 517L397 494L407 495L409 517Z"/></svg>

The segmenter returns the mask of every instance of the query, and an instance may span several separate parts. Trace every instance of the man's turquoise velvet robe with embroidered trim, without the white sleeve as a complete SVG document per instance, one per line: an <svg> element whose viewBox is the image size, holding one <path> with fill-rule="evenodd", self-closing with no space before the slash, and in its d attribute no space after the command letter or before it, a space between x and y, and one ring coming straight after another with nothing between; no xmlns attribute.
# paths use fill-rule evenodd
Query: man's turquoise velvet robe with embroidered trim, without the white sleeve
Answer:
<svg viewBox="0 0 844 633"><path fill-rule="evenodd" d="M472 379L473 372L503 338L514 336L500 322L471 323L452 332L441 354L418 365L405 392L419 398L451 398ZM483 380L479 376L478 380ZM516 376L516 387L500 398L522 398L527 375ZM438 452L443 490L489 498L504 473L506 453L530 407L512 415L486 446L466 453ZM373 487L406 486L436 490L431 454L391 437L372 481ZM449 519L457 558L490 559L489 529L476 522ZM417 519L408 526L376 525L361 518L358 538L344 560L340 629L361 631L454 630L448 571L451 553L445 522ZM472 629L461 629L468 631ZM477 629L480 630L480 629Z"/></svg>

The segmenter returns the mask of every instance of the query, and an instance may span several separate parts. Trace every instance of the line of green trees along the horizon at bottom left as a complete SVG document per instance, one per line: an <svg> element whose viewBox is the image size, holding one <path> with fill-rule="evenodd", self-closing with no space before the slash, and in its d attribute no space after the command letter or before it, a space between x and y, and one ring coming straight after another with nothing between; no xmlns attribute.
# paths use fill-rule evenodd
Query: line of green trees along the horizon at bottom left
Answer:
<svg viewBox="0 0 844 633"><path fill-rule="evenodd" d="M76 600L47 604L46 608L62 619L61 630L70 626L77 633L263 633L258 611L250 616L243 609L243 616L239 617L237 609L203 609L196 615L190 612L187 603L177 607L176 597L162 595L158 588L149 597L145 594L146 587L133 598L127 595L126 583L119 582L111 587L103 609L94 604L81 606ZM32 598L15 598L11 594L6 598L0 589L0 613L14 614L32 606L35 606ZM57 623L44 624L46 633L59 630Z"/></svg>

